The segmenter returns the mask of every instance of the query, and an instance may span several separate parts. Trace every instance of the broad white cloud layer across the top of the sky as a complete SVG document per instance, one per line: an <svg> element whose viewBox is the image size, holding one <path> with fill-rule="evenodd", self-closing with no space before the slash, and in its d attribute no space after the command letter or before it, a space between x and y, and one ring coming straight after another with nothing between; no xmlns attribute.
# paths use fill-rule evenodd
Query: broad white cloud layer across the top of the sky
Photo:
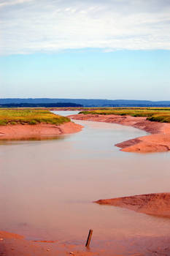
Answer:
<svg viewBox="0 0 170 256"><path fill-rule="evenodd" d="M9 0L0 3L0 54L101 48L170 50L170 3Z"/></svg>

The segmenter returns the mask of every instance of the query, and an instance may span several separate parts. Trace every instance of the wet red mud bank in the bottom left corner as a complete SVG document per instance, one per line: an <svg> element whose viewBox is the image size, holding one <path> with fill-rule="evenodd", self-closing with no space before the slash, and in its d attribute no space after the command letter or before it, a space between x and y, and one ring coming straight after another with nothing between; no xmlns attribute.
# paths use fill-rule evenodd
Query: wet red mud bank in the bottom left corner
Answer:
<svg viewBox="0 0 170 256"><path fill-rule="evenodd" d="M93 256L85 246L61 244L57 241L28 241L15 233L0 231L0 255L5 256Z"/></svg>

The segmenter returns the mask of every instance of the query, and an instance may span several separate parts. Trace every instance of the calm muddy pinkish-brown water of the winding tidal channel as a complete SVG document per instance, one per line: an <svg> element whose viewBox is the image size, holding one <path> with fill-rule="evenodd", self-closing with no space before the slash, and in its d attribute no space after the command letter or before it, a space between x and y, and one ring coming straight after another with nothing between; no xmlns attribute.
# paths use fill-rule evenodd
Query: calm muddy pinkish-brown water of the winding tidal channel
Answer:
<svg viewBox="0 0 170 256"><path fill-rule="evenodd" d="M93 241L169 235L170 219L92 202L169 192L170 154L133 154L114 146L146 135L142 130L75 122L82 132L0 145L0 230L77 244L90 228Z"/></svg>

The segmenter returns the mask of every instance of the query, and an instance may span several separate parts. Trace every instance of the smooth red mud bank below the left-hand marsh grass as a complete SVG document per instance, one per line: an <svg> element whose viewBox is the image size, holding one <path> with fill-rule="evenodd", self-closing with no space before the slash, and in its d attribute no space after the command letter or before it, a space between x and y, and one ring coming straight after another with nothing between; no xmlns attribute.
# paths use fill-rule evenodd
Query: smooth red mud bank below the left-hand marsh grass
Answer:
<svg viewBox="0 0 170 256"><path fill-rule="evenodd" d="M80 132L82 126L73 122L61 125L55 124L16 124L0 126L0 140L15 140L34 137L53 137L74 132Z"/></svg>

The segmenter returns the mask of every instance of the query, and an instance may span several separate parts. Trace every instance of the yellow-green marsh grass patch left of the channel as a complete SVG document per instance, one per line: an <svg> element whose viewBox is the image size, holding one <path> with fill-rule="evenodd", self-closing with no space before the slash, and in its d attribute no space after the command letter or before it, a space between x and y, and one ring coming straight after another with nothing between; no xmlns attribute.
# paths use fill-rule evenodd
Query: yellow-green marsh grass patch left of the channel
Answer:
<svg viewBox="0 0 170 256"><path fill-rule="evenodd" d="M63 124L70 121L64 116L56 116L49 110L0 109L0 125L8 124Z"/></svg>

